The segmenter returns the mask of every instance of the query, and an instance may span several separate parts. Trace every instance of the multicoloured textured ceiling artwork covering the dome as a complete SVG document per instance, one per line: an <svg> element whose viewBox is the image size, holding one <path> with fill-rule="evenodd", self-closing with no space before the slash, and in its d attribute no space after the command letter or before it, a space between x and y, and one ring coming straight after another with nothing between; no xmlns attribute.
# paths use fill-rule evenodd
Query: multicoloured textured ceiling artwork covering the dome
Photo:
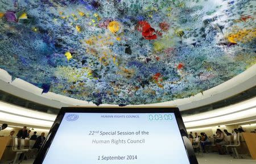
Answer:
<svg viewBox="0 0 256 164"><path fill-rule="evenodd" d="M148 104L255 64L255 1L1 0L0 68L56 94Z"/></svg>

